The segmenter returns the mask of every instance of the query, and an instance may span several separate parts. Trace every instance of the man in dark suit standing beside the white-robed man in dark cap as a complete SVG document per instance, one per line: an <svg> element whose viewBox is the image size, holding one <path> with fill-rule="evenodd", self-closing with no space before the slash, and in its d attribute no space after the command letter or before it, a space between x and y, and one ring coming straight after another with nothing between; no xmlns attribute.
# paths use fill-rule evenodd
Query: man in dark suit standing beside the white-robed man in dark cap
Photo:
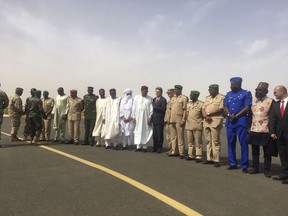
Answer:
<svg viewBox="0 0 288 216"><path fill-rule="evenodd" d="M161 153L164 141L164 117L167 106L166 99L162 96L161 87L155 89L156 97L153 98L153 150L152 152Z"/></svg>

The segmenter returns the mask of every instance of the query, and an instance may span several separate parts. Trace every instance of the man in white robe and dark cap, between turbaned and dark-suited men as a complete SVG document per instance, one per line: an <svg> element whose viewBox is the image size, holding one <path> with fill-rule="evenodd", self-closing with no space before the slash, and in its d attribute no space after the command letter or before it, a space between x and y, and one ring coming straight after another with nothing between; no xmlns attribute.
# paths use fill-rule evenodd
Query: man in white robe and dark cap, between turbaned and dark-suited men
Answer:
<svg viewBox="0 0 288 216"><path fill-rule="evenodd" d="M147 151L147 143L150 140L153 128L151 116L153 113L153 98L148 96L148 87L141 87L141 95L134 97L132 107L132 118L134 119L134 143L137 145L135 151Z"/></svg>

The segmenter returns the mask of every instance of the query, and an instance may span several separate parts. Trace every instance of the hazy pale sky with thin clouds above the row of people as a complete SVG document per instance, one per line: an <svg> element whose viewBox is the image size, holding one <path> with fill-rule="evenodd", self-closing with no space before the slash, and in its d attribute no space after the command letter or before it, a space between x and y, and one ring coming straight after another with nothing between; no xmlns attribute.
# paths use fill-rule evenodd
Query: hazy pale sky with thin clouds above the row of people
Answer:
<svg viewBox="0 0 288 216"><path fill-rule="evenodd" d="M232 76L288 87L287 0L0 0L0 82L65 92L142 85L183 93ZM272 96L272 94L270 94Z"/></svg>

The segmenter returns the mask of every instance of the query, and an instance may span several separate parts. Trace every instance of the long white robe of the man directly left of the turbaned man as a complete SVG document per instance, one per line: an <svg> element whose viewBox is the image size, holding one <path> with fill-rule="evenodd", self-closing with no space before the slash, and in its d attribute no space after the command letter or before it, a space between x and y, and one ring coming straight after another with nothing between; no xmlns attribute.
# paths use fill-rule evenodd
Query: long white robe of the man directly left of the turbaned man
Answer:
<svg viewBox="0 0 288 216"><path fill-rule="evenodd" d="M103 133L101 134L101 137L104 137L104 139L113 139L120 133L120 101L121 98L107 98L103 109L105 124L103 125Z"/></svg>

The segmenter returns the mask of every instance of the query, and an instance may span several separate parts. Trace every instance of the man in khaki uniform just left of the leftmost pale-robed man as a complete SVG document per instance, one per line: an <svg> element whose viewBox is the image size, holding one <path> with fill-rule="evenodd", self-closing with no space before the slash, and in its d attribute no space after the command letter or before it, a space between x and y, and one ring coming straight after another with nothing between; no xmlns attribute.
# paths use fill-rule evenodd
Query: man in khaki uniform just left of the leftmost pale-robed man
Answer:
<svg viewBox="0 0 288 216"><path fill-rule="evenodd" d="M54 99L49 97L48 91L43 91L42 104L46 119L43 119L43 128L40 139L49 141L51 136L51 123L53 119L52 110L54 107Z"/></svg>

